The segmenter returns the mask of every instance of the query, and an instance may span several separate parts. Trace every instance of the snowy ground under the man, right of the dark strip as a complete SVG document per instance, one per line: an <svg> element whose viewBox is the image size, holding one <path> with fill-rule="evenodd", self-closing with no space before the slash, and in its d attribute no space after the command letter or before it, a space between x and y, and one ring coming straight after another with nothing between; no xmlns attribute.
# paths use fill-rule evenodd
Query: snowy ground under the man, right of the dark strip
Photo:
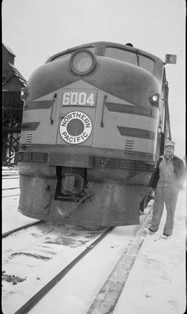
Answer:
<svg viewBox="0 0 187 314"><path fill-rule="evenodd" d="M186 309L186 212L185 192L179 193L171 239L159 232L145 241L126 281L114 314L182 314ZM99 313L98 313L99 314Z"/></svg>

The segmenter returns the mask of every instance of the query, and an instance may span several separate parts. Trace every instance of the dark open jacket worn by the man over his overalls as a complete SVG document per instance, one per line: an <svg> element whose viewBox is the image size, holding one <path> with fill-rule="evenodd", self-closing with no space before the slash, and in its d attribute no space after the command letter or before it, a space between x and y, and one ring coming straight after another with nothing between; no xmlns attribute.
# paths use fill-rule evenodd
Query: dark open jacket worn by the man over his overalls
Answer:
<svg viewBox="0 0 187 314"><path fill-rule="evenodd" d="M148 183L148 187L152 187L153 189L157 187L157 183L159 181L159 165L161 163L162 158L159 157L159 160L157 160L157 165L154 169L154 172L152 173L152 176L150 178L150 182ZM177 156L173 156L173 167L174 172L176 176L176 185L181 189L184 184L184 178L185 178L185 167L183 161L178 158Z"/></svg>

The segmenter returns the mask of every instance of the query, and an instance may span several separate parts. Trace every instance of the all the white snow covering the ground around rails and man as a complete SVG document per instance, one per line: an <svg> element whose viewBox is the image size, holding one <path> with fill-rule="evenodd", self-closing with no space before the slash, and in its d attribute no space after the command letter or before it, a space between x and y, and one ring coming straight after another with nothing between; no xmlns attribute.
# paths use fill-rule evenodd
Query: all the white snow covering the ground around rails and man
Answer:
<svg viewBox="0 0 187 314"><path fill-rule="evenodd" d="M15 187L17 179L3 181L4 187ZM175 215L175 229L171 239L160 239L166 220L163 213L161 227L157 234L147 235L118 299L114 314L181 314L186 308L186 228L185 192L179 193ZM3 232L33 221L17 212L19 196L3 198ZM10 222L10 216L12 217ZM145 216L141 216L141 221ZM25 223L25 221L24 221ZM40 229L39 229L40 228ZM95 238L84 241L71 228L48 223L33 226L30 233L19 232L9 237L3 246L3 271L6 274L26 278L13 285L3 281L3 313L14 313L44 283L69 264ZM64 233L61 228L64 229ZM91 250L29 313L38 314L86 314L100 288L121 257L138 226L117 227L102 242ZM40 232L39 232L40 230ZM55 230L55 231L54 231ZM71 230L71 231L70 231ZM63 235L62 235L63 234ZM5 240L5 239L4 239ZM5 243L5 242L4 242ZM15 252L32 252L49 259L30 259ZM17 261L19 267L17 268ZM28 273L28 268L30 271ZM16 270L16 273L15 273ZM100 314L100 313L98 313Z"/></svg>

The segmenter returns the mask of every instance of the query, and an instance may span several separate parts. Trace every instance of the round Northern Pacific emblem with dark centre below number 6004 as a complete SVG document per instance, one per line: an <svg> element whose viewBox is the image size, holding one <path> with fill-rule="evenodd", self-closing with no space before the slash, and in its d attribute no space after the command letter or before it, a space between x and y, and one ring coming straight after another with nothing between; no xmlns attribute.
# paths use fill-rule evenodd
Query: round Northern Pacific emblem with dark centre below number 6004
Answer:
<svg viewBox="0 0 187 314"><path fill-rule="evenodd" d="M81 111L68 113L60 123L60 136L69 144L80 144L87 140L92 131L89 116Z"/></svg>

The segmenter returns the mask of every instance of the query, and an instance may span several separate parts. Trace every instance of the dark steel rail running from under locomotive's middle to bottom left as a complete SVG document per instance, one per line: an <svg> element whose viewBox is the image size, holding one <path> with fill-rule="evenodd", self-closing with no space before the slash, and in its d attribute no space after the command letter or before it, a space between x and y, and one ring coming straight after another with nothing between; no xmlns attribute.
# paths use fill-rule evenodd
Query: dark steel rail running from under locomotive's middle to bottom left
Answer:
<svg viewBox="0 0 187 314"><path fill-rule="evenodd" d="M103 234L101 234L101 236L98 237L96 241L91 243L91 245L88 246L82 253L80 253L78 257L73 259L73 261L71 261L71 263L68 266L66 266L64 269L60 271L60 273L53 277L53 279L51 279L51 281L49 281L48 284L46 284L42 289L35 293L35 295L33 295L33 297L31 297L28 300L28 302L21 306L21 308L19 308L15 312L15 314L28 313L28 311L30 311L30 309L33 308L33 306L35 306L35 304L37 304L39 300L42 299L42 297L44 297L44 295L48 293L48 291L50 291L67 273L69 273L69 270L71 270L71 268L73 268L73 266L75 266L78 263L78 261L80 261L85 255L87 255L87 253L90 252L100 241L102 241L107 236L107 234L109 234L109 232L112 232L114 228L115 227L110 227Z"/></svg>

